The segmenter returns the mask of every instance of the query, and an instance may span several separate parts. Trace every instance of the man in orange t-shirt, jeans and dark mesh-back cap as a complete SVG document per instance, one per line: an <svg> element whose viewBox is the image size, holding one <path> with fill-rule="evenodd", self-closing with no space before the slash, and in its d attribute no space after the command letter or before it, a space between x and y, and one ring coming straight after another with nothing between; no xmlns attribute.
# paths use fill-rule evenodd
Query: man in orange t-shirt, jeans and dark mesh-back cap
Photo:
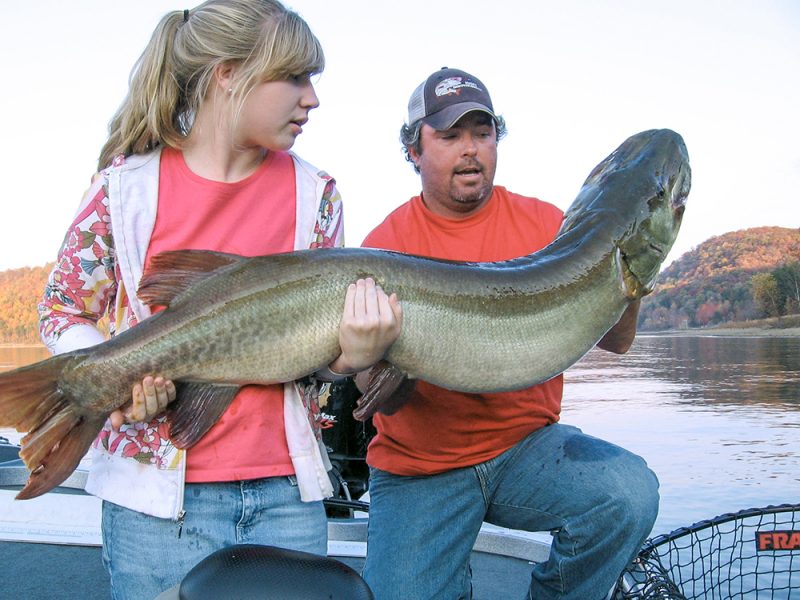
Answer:
<svg viewBox="0 0 800 600"><path fill-rule="evenodd" d="M498 261L550 243L561 211L494 185L504 133L480 80L433 73L412 94L401 130L422 193L363 245ZM598 346L626 352L637 314L632 305ZM397 412L375 415L364 577L377 600L471 598L470 551L484 521L553 532L530 598L606 597L650 533L658 482L640 457L558 423L562 386L557 376L466 394L417 381Z"/></svg>

